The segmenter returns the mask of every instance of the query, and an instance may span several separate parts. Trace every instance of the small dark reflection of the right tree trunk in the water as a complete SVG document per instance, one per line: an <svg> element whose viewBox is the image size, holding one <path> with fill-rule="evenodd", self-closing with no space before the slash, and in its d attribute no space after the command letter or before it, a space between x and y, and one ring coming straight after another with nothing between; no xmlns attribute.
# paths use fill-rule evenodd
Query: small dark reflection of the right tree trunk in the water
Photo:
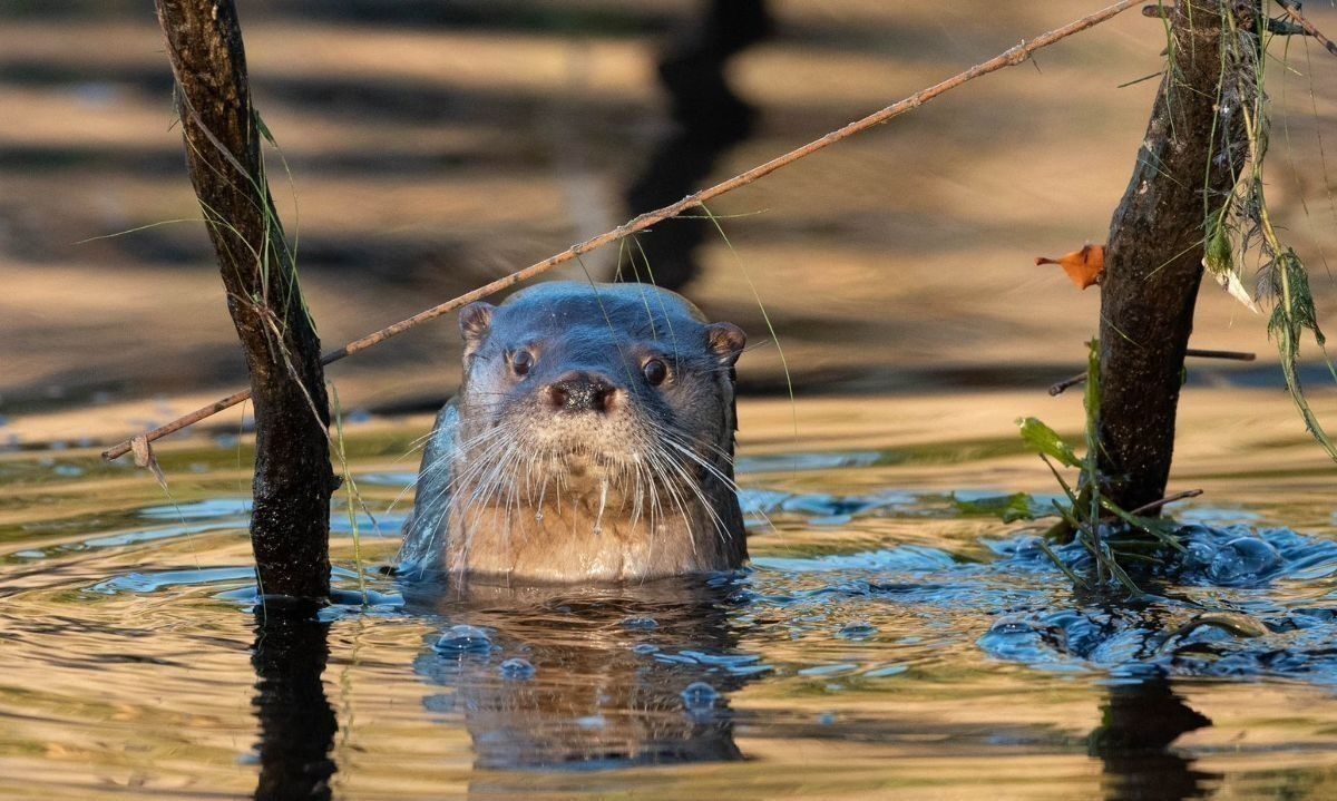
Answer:
<svg viewBox="0 0 1337 801"><path fill-rule="evenodd" d="M1104 766L1110 801L1183 801L1207 796L1219 774L1194 770L1194 760L1170 750L1181 734L1211 721L1175 694L1163 675L1110 687L1102 723L1088 741Z"/></svg>

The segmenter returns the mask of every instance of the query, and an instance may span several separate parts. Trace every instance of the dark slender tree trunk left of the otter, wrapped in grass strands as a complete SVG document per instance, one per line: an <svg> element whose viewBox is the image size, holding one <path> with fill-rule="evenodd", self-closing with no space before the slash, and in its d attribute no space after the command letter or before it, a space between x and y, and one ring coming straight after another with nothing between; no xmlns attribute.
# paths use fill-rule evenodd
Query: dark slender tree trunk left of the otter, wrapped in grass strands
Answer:
<svg viewBox="0 0 1337 801"><path fill-rule="evenodd" d="M320 340L261 160L231 0L156 0L190 179L218 253L255 409L251 546L266 594L329 592L329 404Z"/></svg>

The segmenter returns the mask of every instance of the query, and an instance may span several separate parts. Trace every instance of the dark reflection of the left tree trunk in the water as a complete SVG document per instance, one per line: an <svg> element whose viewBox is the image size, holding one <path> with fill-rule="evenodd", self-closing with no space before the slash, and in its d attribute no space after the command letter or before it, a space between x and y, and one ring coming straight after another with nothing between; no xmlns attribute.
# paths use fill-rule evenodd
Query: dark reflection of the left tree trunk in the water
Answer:
<svg viewBox="0 0 1337 801"><path fill-rule="evenodd" d="M321 674L329 623L312 608L270 603L255 611L253 706L259 721L257 801L330 798L330 758L338 723Z"/></svg>

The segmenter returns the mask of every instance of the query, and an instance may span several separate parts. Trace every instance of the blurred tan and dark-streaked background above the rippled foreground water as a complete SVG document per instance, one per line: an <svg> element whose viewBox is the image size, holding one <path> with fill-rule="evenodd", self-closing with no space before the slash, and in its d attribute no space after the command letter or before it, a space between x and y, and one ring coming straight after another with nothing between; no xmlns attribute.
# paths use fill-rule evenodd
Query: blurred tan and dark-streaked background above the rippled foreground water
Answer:
<svg viewBox="0 0 1337 801"><path fill-rule="evenodd" d="M282 148L273 190L333 349L1102 3L238 5ZM1337 31L1330 3L1305 12ZM1039 404L1083 364L1099 290L1034 259L1104 241L1163 47L1130 11L719 199L731 247L705 221L640 245L660 282L750 333L749 394L785 392L765 306L801 400L1007 388ZM1269 199L1330 322L1337 59L1302 40L1273 55ZM243 385L152 3L0 0L0 445L119 439ZM608 278L628 255L563 275ZM452 316L329 377L345 409L424 411L453 390L456 342ZM1259 353L1194 381L1281 386L1266 320L1210 281L1194 345Z"/></svg>

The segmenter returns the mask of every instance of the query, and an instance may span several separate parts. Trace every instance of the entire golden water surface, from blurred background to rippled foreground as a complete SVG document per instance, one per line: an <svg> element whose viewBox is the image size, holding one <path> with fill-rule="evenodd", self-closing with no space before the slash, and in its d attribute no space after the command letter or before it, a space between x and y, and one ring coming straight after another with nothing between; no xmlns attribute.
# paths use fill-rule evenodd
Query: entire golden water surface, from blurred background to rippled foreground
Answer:
<svg viewBox="0 0 1337 801"><path fill-rule="evenodd" d="M1190 365L1173 489L1206 491L1175 505L1202 528L1155 599L1074 592L1023 519L1058 487L1012 420L1078 431L1044 388L1084 364L1099 305L1034 258L1103 237L1155 20L721 199L727 245L705 221L642 238L663 277L682 263L662 239L698 245L691 298L755 345L749 572L467 594L384 572L429 424L396 415L457 377L443 321L330 373L376 519L336 511L336 603L308 618L255 608L243 420L162 447L171 497L90 449L245 381L203 227L163 225L198 205L144 5L0 3L0 797L1337 796L1333 465L1262 318L1199 298L1194 345L1259 361ZM328 346L611 229L656 166L674 199L1094 7L771 3L774 35L726 71L751 119L706 116L731 144L683 159L656 64L710 4L243 5ZM1305 13L1337 29L1330 4ZM1322 314L1337 62L1301 44L1273 49L1269 199ZM786 390L769 322L797 408L755 397ZM1302 372L1337 419L1326 370Z"/></svg>

